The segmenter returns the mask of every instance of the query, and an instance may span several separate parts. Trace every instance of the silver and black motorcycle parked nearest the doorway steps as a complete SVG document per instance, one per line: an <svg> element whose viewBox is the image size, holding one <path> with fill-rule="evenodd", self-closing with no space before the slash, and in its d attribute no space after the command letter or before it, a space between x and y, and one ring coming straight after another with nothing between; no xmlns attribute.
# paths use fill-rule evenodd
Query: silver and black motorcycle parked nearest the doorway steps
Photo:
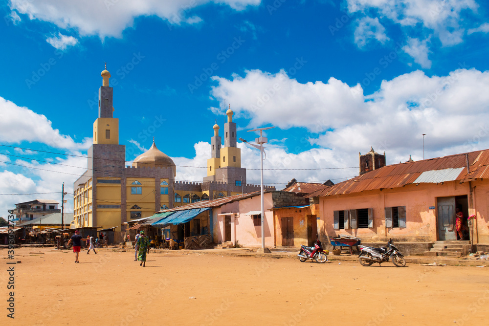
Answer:
<svg viewBox="0 0 489 326"><path fill-rule="evenodd" d="M397 267L404 267L406 265L406 260L404 255L399 252L399 249L392 244L392 239L387 242L387 247L367 247L358 245L360 249L360 254L358 255L358 260L362 266L370 266L374 262L378 262L378 265L382 262L392 261Z"/></svg>

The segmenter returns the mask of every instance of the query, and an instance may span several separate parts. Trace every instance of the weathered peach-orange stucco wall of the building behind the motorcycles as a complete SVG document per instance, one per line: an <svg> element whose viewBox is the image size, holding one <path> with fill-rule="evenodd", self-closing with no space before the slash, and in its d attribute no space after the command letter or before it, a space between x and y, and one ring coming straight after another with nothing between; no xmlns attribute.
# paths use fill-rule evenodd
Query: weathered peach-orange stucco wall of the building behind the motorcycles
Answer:
<svg viewBox="0 0 489 326"><path fill-rule="evenodd" d="M489 183L486 181L472 182L475 188L475 210L478 220L474 240L489 243L488 230L488 193ZM319 214L324 223L318 231L321 240L328 240L338 234L349 234L364 239L365 242L384 242L389 238L408 242L436 241L437 235L437 197L464 196L470 201L468 183L459 181L445 182L444 184L422 183L418 186L411 184L402 188L366 191L359 194L337 195L320 197L319 205L312 204L312 211ZM470 206L470 203L468 204ZM317 206L319 212L317 212ZM385 227L385 207L406 207L406 228ZM333 211L346 209L373 209L373 227L358 229L334 230ZM313 214L314 214L313 212ZM468 214L474 214L469 209ZM477 236L477 237L476 237ZM475 241L474 241L475 242Z"/></svg>

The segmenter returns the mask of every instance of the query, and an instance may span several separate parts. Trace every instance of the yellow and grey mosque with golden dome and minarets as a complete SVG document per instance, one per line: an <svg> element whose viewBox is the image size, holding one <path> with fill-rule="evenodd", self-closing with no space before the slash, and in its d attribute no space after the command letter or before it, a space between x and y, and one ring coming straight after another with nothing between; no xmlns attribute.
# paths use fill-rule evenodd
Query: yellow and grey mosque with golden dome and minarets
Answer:
<svg viewBox="0 0 489 326"><path fill-rule="evenodd" d="M122 223L152 216L161 209L260 190L260 185L246 184L231 109L226 112L224 147L219 126L216 123L213 127L211 157L202 182L176 181L175 162L158 150L154 139L147 152L137 156L132 166L126 166L126 146L119 144L119 119L113 117L113 90L107 67L101 76L88 169L73 184L74 227L115 227L115 231L123 231Z"/></svg>

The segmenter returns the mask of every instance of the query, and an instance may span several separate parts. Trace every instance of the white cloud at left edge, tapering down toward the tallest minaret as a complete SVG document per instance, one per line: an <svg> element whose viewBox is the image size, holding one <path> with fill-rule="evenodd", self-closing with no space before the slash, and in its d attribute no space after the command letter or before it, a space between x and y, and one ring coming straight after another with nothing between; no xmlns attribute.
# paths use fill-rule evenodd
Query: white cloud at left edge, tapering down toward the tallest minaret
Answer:
<svg viewBox="0 0 489 326"><path fill-rule="evenodd" d="M91 138L85 138L83 143L76 143L70 136L53 129L51 121L44 115L25 107L18 107L2 97L0 97L0 112L0 142L40 142L50 147L67 150L87 149L92 143Z"/></svg>

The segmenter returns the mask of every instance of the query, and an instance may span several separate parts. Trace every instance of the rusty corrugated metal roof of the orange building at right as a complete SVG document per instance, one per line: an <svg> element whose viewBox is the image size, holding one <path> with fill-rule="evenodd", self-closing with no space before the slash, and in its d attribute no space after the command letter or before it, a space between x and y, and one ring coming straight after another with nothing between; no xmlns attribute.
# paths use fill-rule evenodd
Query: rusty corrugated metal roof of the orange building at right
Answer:
<svg viewBox="0 0 489 326"><path fill-rule="evenodd" d="M468 174L467 160L470 171ZM307 197L345 195L368 190L399 188L407 184L418 183L416 180L424 172L429 172L423 176L425 180L435 180L435 177L440 179L451 177L451 174L446 172L436 172L442 170L451 170L453 174L456 174L455 170L459 171L459 174L452 180L460 180L460 182L489 178L489 150L387 165L331 187L317 190Z"/></svg>

